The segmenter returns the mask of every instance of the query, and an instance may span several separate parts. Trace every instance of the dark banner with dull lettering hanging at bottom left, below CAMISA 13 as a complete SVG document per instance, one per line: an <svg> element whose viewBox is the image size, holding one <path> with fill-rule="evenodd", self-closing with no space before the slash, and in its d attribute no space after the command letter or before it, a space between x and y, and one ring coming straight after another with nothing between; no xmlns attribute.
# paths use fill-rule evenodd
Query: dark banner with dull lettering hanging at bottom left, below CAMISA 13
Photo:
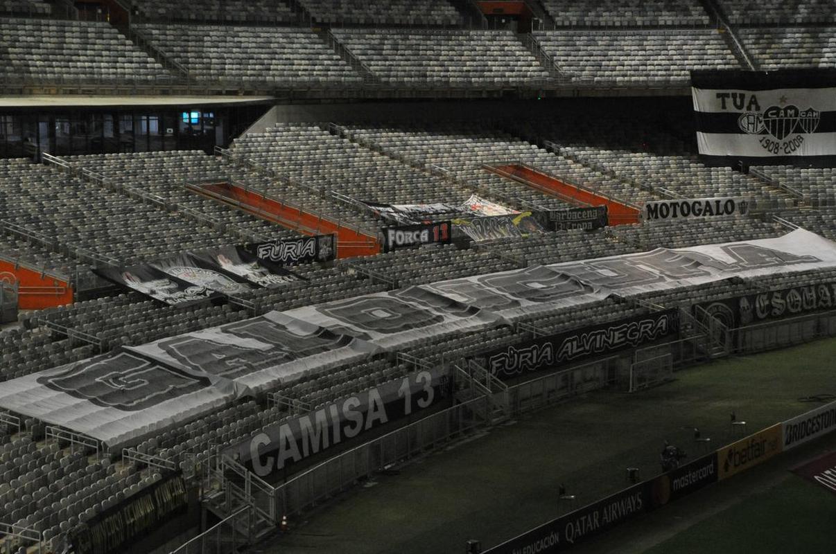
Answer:
<svg viewBox="0 0 836 554"><path fill-rule="evenodd" d="M75 554L123 552L187 507L186 481L182 475L171 475L76 527L69 541Z"/></svg>

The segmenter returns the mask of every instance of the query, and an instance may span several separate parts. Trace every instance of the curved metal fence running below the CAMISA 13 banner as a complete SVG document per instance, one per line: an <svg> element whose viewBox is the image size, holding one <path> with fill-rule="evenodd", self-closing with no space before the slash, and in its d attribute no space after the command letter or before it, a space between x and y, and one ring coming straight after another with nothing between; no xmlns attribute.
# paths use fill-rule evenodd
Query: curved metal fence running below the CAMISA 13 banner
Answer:
<svg viewBox="0 0 836 554"><path fill-rule="evenodd" d="M401 460L421 455L486 424L486 398L470 400L396 429L316 465L275 490L278 513L293 516Z"/></svg>

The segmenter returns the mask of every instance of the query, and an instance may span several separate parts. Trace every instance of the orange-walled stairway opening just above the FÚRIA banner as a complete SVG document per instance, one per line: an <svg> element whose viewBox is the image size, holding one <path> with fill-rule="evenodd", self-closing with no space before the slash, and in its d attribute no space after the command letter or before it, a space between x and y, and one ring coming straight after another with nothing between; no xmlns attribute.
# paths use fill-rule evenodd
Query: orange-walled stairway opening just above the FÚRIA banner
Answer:
<svg viewBox="0 0 836 554"><path fill-rule="evenodd" d="M380 252L376 236L359 231L341 221L332 221L313 211L303 210L260 191L232 183L186 185L190 191L237 207L254 216L273 221L304 235L337 235L337 256L340 258L371 256Z"/></svg>

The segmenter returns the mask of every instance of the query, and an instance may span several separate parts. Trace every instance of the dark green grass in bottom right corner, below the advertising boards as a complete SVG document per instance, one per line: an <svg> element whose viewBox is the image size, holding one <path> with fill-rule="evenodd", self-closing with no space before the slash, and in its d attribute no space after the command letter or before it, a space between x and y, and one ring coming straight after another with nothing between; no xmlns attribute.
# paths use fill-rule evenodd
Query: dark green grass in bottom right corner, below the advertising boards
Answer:
<svg viewBox="0 0 836 554"><path fill-rule="evenodd" d="M645 554L836 550L836 496L796 475L700 521Z"/></svg>

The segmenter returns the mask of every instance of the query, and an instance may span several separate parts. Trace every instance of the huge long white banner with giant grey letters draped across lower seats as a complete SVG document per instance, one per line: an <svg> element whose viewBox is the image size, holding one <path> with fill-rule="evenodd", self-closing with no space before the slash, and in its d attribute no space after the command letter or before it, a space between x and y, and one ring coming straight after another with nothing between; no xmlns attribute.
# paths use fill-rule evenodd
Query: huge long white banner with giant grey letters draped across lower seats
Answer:
<svg viewBox="0 0 836 554"><path fill-rule="evenodd" d="M0 409L135 444L242 396L609 294L836 267L836 243L797 230L772 239L659 248L406 287L165 338L12 379Z"/></svg>

